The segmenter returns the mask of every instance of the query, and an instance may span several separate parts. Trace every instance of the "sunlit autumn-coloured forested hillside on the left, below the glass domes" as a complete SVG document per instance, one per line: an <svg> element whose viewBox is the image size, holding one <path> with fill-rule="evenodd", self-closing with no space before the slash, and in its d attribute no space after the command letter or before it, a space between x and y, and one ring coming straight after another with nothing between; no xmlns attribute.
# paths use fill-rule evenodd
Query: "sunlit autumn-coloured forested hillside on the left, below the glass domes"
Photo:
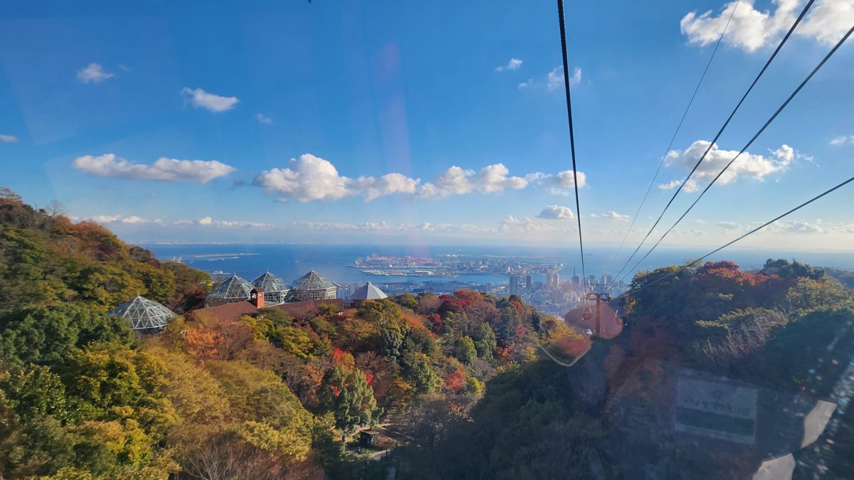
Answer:
<svg viewBox="0 0 854 480"><path fill-rule="evenodd" d="M384 477L389 448L440 441L496 373L577 339L467 290L220 322L192 311L206 273L50 210L0 196L0 478ZM107 316L137 294L181 316L137 337Z"/></svg>

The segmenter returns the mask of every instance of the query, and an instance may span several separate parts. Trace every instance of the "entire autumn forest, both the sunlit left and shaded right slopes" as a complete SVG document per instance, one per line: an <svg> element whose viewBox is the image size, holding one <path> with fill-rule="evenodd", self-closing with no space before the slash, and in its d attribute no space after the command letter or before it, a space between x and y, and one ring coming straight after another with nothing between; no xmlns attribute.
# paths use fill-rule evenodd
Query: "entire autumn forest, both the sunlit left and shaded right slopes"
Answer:
<svg viewBox="0 0 854 480"><path fill-rule="evenodd" d="M611 305L625 325L605 307L593 339L567 326L578 312L469 290L219 321L193 311L207 274L50 210L0 197L2 478L631 477L633 455L668 477L685 455L656 412L679 369L847 401L845 272L641 272ZM137 294L180 316L134 335L106 313ZM854 476L851 410L834 414L793 450L799 475ZM692 455L725 477L756 467Z"/></svg>

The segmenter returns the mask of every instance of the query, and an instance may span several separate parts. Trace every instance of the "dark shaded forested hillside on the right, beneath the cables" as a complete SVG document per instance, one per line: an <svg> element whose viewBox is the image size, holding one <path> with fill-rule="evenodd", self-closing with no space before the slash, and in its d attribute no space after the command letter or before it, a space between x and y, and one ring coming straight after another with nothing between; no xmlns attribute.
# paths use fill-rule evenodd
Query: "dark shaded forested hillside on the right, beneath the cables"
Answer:
<svg viewBox="0 0 854 480"><path fill-rule="evenodd" d="M672 417L656 423L656 412L672 401L667 377L682 369L766 389L772 407L775 395L778 402L791 395L839 402L837 420L810 448L798 449L798 430L776 431L781 442L796 437L788 450L798 461L795 477L854 477L854 425L844 408L854 380L851 290L821 268L786 260L769 260L755 273L710 262L644 288L677 269L635 276L636 293L615 301L628 311L623 332L594 340L576 365L541 361L501 372L471 420L442 423L430 442L401 452L406 477L637 477L643 470L751 477L757 461L734 461L744 449L723 450L719 442L690 450L670 443ZM719 448L722 458L714 456Z"/></svg>

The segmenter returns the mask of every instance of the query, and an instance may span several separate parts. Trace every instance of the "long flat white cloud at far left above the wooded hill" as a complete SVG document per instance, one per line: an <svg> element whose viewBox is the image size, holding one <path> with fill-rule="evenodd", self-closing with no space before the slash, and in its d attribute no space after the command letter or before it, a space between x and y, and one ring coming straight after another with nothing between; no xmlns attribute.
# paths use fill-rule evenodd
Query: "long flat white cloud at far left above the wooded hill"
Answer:
<svg viewBox="0 0 854 480"><path fill-rule="evenodd" d="M175 160L163 157L151 165L143 165L131 163L114 154L79 156L74 159L73 167L99 177L202 184L235 171L234 167L219 161Z"/></svg>

